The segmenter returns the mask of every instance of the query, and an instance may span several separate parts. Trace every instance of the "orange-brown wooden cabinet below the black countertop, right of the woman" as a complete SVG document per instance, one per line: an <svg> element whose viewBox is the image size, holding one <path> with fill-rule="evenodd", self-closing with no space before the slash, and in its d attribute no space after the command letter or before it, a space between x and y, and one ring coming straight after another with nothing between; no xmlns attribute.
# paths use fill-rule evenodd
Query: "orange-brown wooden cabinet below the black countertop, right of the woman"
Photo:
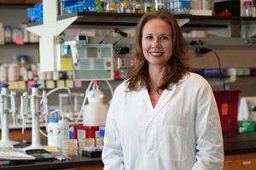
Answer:
<svg viewBox="0 0 256 170"><path fill-rule="evenodd" d="M256 153L225 156L224 170L255 170Z"/></svg>

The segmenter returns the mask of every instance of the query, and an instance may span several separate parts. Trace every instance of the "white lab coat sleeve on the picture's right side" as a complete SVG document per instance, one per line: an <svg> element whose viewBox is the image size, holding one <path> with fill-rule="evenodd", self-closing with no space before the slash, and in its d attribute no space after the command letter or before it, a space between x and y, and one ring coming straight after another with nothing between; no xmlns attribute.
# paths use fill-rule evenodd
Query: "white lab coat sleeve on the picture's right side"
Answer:
<svg viewBox="0 0 256 170"><path fill-rule="evenodd" d="M200 89L195 105L196 162L192 170L222 170L224 147L218 106L207 82Z"/></svg>

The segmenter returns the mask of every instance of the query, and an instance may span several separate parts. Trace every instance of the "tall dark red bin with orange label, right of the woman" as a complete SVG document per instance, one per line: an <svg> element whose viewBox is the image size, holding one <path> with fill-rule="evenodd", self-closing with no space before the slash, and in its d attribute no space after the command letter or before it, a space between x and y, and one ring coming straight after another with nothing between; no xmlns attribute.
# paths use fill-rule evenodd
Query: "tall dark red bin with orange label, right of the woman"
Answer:
<svg viewBox="0 0 256 170"><path fill-rule="evenodd" d="M237 113L240 90L214 90L223 133L238 132Z"/></svg>

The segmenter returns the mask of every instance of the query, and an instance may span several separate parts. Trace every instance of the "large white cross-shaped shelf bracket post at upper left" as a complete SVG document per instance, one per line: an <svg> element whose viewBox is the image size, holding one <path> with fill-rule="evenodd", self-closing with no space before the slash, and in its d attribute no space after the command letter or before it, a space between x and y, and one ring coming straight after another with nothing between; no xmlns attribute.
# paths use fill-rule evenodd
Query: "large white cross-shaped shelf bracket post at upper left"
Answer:
<svg viewBox="0 0 256 170"><path fill-rule="evenodd" d="M64 20L57 20L58 5L57 0L43 0L43 25L31 26L27 31L39 36L39 58L40 71L56 71L56 46L57 37L67 26L70 26L77 16Z"/></svg>

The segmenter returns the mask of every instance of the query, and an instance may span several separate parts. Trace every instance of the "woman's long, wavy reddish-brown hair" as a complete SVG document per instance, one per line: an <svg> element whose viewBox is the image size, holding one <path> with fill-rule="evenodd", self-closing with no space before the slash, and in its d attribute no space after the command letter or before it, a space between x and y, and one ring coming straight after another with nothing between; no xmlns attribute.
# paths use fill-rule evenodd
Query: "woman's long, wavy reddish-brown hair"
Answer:
<svg viewBox="0 0 256 170"><path fill-rule="evenodd" d="M137 35L132 47L132 55L135 57L136 63L127 75L126 83L131 91L137 91L143 87L148 88L148 61L143 55L142 37L143 26L145 26L149 20L153 19L164 20L172 28L172 57L168 60L158 90L168 89L170 83L178 82L185 73L190 71L186 44L175 16L170 14L166 9L144 14L137 24Z"/></svg>

